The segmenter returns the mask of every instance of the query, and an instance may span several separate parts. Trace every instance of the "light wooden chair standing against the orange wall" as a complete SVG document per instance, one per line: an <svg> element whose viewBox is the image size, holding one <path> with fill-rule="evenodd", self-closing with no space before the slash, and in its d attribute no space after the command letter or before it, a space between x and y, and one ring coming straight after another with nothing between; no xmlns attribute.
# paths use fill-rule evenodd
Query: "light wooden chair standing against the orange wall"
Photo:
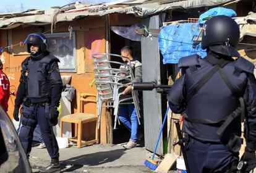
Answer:
<svg viewBox="0 0 256 173"><path fill-rule="evenodd" d="M90 99L90 98L95 99ZM83 101L86 103L96 103L96 95L90 94L90 93L78 93L77 95L78 101L77 101L77 113L70 114L67 116L64 116L61 118L61 137L62 137L62 123L63 122L70 122L75 124L75 137L69 138L69 141L77 141L77 148L81 148L84 145L88 145L90 143L98 143L98 127L97 127L97 121L98 117L96 116L96 108L95 108L95 114L88 114L83 113ZM81 106L82 103L82 106ZM82 128L83 124L87 122L95 122L95 139L85 141L82 140Z"/></svg>

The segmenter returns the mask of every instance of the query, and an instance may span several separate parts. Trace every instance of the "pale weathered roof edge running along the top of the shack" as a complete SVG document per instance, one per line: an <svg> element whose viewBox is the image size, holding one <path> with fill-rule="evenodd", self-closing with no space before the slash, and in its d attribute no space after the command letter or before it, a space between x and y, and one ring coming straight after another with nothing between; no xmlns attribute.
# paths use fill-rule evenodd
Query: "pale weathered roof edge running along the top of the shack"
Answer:
<svg viewBox="0 0 256 173"><path fill-rule="evenodd" d="M127 7L114 7L114 8L100 8L97 6L96 9L92 10L92 6L89 9L85 9L86 11L80 12L69 12L58 14L56 22L65 22L72 21L80 17L87 16L102 16L106 14L112 13L122 13L122 14L133 14L140 17L145 17L148 15L158 14L163 11L167 11L169 9L192 9L197 7L209 7L209 6L219 6L222 4L226 4L228 2L234 2L236 0L184 0L184 1L174 1L174 0L164 0L164 1L123 1L120 4L124 3L144 3L142 5L130 6ZM146 3L147 2L147 3ZM95 7L96 7L95 6ZM79 9L77 9L79 11ZM38 11L41 12L41 11ZM31 13L31 12L30 12ZM20 15L20 14L19 14ZM1 14L0 14L1 16ZM2 18L0 20L0 28L1 29L11 29L18 27L19 25L46 25L50 24L53 21L54 14L30 14L28 16L23 17L10 17L9 19Z"/></svg>

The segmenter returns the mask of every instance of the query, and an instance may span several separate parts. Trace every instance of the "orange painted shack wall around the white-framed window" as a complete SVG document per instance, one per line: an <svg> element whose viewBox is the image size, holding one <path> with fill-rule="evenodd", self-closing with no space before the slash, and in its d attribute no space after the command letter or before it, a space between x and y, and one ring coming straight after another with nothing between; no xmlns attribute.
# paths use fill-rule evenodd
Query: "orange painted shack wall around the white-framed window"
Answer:
<svg viewBox="0 0 256 173"><path fill-rule="evenodd" d="M111 14L109 17L110 25L132 25L140 22L139 17L123 14ZM73 27L76 35L76 60L77 60L77 73L61 73L61 75L71 75L70 85L76 88L76 92L95 93L96 88L89 86L89 83L94 79L93 73L93 53L106 52L105 40L105 17L86 17L83 19L75 20L72 22L57 23L56 29L53 33L68 32L69 25ZM28 34L35 32L50 33L50 25L35 26L35 25L22 25L12 30L0 30L0 47L7 46L8 44L17 44L25 40ZM9 41L9 42L8 42ZM114 43L116 44L116 43ZM4 56L4 72L8 75L11 82L11 91L17 90L20 78L20 64L29 56L27 48L15 46L13 50L0 54ZM9 99L8 114L12 119L12 112L14 110L14 96ZM88 108L88 107L87 107ZM96 104L90 105L87 109L88 112L95 113ZM77 101L72 101L72 112L77 112ZM89 127L91 128L91 127ZM88 133L88 129L85 131ZM93 131L93 130L91 130ZM106 119L105 111L101 116L101 130L100 142L106 143Z"/></svg>

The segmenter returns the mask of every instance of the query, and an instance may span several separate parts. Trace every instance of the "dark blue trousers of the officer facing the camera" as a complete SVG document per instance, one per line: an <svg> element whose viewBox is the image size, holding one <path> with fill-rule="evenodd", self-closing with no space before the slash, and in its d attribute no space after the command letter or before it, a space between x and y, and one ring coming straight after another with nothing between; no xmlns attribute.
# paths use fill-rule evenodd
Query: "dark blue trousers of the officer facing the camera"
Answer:
<svg viewBox="0 0 256 173"><path fill-rule="evenodd" d="M32 150L33 132L36 124L38 124L49 156L51 156L51 159L58 159L58 143L53 133L53 127L49 125L47 119L49 115L49 105L22 106L22 114L22 126L20 127L19 137L27 156L29 156ZM26 114L30 117L26 118Z"/></svg>

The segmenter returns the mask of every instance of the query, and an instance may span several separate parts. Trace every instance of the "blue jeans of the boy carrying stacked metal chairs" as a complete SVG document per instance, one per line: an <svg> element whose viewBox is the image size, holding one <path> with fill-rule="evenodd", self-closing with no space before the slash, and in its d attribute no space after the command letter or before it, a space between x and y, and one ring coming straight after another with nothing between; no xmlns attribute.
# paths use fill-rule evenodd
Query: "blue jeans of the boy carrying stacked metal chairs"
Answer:
<svg viewBox="0 0 256 173"><path fill-rule="evenodd" d="M134 104L121 104L118 113L119 120L130 131L130 139L137 141L138 119Z"/></svg>

